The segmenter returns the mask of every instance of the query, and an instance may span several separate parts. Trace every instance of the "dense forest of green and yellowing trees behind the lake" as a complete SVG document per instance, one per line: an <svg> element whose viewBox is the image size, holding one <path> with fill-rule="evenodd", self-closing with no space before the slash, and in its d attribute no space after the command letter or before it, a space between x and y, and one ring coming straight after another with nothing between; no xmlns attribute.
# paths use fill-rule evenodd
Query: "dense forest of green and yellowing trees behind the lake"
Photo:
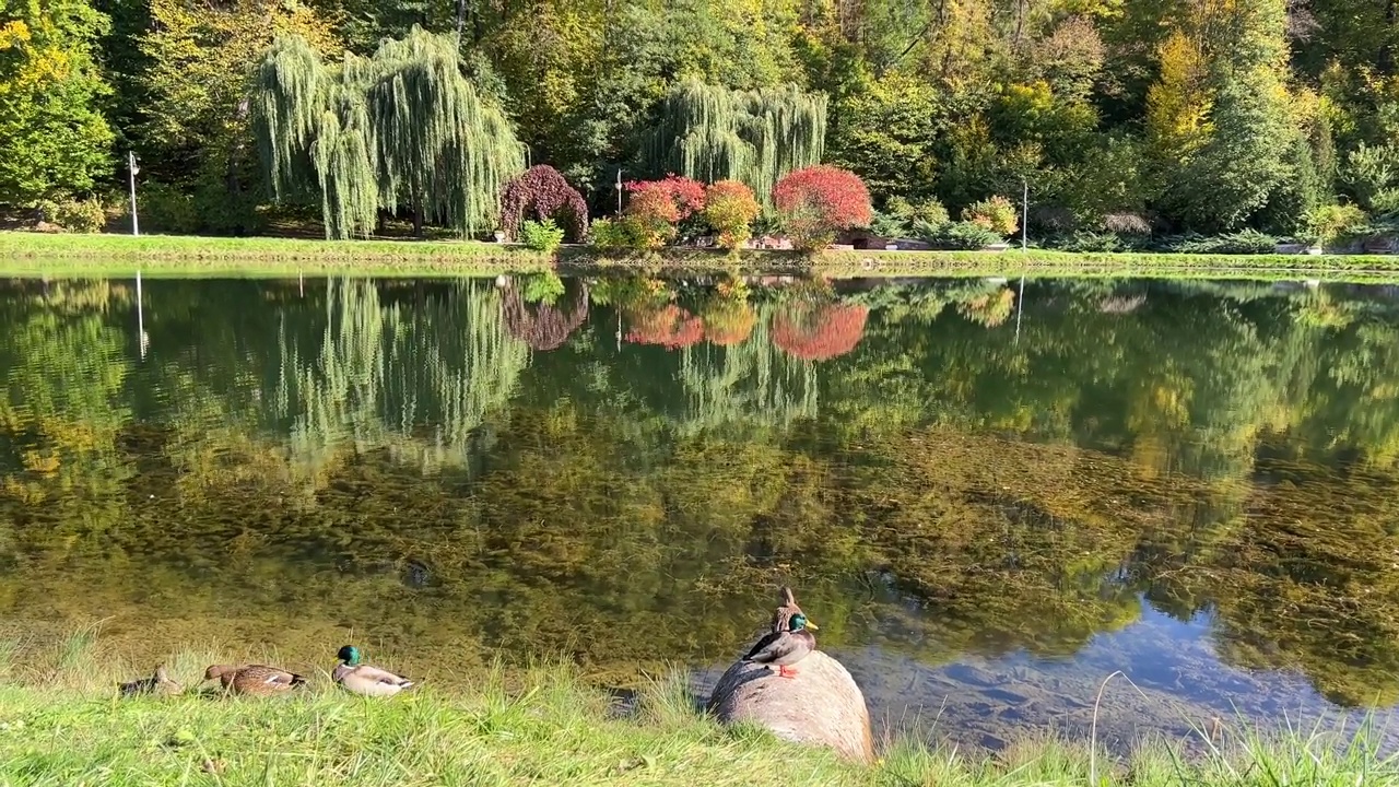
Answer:
<svg viewBox="0 0 1399 787"><path fill-rule="evenodd" d="M6 0L0 21L0 206L74 224L123 210L127 151L150 230L185 234L488 231L540 164L593 216L623 181L704 171L768 210L816 160L876 221L1028 188L1031 234L1086 251L1399 213L1395 0Z"/></svg>

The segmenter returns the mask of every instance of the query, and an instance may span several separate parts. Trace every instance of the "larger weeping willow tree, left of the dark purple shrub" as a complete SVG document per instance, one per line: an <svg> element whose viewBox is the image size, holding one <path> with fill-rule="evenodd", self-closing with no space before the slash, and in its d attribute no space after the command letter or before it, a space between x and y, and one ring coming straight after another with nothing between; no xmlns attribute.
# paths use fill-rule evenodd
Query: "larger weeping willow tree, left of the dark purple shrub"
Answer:
<svg viewBox="0 0 1399 787"><path fill-rule="evenodd" d="M301 36L263 56L253 133L277 200L319 196L327 238L368 235L379 209L413 209L463 235L494 221L525 168L501 109L462 74L449 36L414 27L372 57L327 66Z"/></svg>

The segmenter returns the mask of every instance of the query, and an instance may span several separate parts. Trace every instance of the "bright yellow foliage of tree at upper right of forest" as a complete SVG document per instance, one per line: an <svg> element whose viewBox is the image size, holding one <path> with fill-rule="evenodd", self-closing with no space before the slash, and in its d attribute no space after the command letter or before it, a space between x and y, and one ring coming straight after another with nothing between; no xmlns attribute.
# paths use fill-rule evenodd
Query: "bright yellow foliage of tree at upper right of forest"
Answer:
<svg viewBox="0 0 1399 787"><path fill-rule="evenodd" d="M1177 29L1161 43L1160 60L1161 77L1146 97L1147 136L1165 157L1186 160L1213 130L1205 53L1198 41Z"/></svg>

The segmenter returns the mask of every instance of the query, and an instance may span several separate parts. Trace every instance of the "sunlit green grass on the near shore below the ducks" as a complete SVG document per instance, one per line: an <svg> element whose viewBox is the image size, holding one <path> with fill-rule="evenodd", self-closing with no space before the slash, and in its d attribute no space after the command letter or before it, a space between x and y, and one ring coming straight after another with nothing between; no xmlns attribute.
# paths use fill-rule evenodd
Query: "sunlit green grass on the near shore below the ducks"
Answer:
<svg viewBox="0 0 1399 787"><path fill-rule="evenodd" d="M886 744L873 766L841 762L764 730L722 727L694 710L681 681L652 681L617 718L606 692L571 667L484 671L469 688L431 685L392 700L339 692L323 672L288 697L224 699L193 683L227 654L169 660L176 697L116 697L136 676L80 633L36 660L0 647L0 786L185 784L649 784L1186 787L1399 783L1367 735L1300 730L1224 734L1192 756L1146 744L1123 759L1084 744L1027 738L1000 753ZM246 655L246 654L245 654Z"/></svg>

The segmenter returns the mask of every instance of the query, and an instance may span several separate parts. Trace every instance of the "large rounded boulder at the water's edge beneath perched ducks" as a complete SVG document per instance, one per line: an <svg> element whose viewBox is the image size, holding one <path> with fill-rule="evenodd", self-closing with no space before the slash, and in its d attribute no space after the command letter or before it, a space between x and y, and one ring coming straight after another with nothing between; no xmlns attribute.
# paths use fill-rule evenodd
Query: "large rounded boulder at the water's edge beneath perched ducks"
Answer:
<svg viewBox="0 0 1399 787"><path fill-rule="evenodd" d="M783 741L831 746L842 756L874 762L865 695L839 661L821 651L796 664L795 678L761 664L734 662L709 695L720 723L747 720Z"/></svg>

